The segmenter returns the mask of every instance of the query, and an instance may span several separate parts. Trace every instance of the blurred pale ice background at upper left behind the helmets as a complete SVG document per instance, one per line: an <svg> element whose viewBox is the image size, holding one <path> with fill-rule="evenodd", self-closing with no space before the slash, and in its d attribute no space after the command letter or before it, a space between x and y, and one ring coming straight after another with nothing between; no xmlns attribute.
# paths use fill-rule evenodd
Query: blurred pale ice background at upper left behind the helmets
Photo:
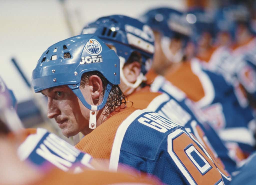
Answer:
<svg viewBox="0 0 256 185"><path fill-rule="evenodd" d="M11 57L15 57L30 80L41 54L52 44L71 37L63 8L58 0L0 0L0 76L14 91L18 102L30 99ZM67 0L65 3L78 35L84 24L101 16L123 14L138 17L155 7L185 9L185 0Z"/></svg>

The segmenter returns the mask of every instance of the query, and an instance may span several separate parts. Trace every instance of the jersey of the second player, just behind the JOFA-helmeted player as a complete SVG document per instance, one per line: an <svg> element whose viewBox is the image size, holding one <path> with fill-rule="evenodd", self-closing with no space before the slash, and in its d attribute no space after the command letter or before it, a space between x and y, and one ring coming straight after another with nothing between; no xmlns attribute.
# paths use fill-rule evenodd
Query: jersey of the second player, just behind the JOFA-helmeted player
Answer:
<svg viewBox="0 0 256 185"><path fill-rule="evenodd" d="M170 92L170 93L172 93L172 92ZM216 160L218 160L219 164L222 165L222 167L224 169L226 168L226 170L229 173L236 170L236 163L228 155L228 150L222 143L222 141L219 138L219 136L217 135L217 133L215 133L215 131L212 128L208 128L207 130L204 128L203 124L201 124L196 119L196 117L193 115L193 113L186 106L186 104L184 103L185 100L178 101L174 97L172 97L171 94L169 95L170 97L168 99L165 99L166 96L164 96L164 98L162 99L161 96L159 96L161 94L163 94L163 93L151 92L150 89L148 89L148 92L145 92L145 88L144 88L144 89L141 89L141 90L137 91L136 93L128 96L128 100L134 102L133 106L136 108L139 108L139 109L147 108L147 109L150 109L151 111L158 112L158 113L161 112L161 109L163 107L165 107L165 109L166 109L166 106L169 103L169 101L172 101L172 100L175 101L176 102L175 107L168 107L168 112L172 112L172 113L171 114L165 113L163 116L166 116L167 118L170 118L170 119L174 119L174 116L175 117L177 116L177 119L178 119L177 121L179 121L185 116L185 114L189 114L190 118L189 118L189 120L187 120L186 123L184 123L185 127L189 128L193 134L195 134L194 133L195 130L197 132L201 132L201 133L198 133L198 135L200 135L200 136L197 135L197 137L199 137L197 139L200 140L200 142L202 142L202 144L205 147L207 147L207 149L211 152L212 156L214 156L213 153L214 154L217 153L217 154L215 154ZM151 102L153 102L155 100L155 98L157 98L159 105L155 104L155 105L151 105L150 107L148 107L148 105ZM184 114L179 114L179 112L176 112L177 109L185 111ZM191 126L192 121L196 121L195 128L193 128ZM208 127L210 127L210 126L208 125ZM207 138L207 142L205 141L206 138ZM224 163L224 165L223 165L223 163Z"/></svg>

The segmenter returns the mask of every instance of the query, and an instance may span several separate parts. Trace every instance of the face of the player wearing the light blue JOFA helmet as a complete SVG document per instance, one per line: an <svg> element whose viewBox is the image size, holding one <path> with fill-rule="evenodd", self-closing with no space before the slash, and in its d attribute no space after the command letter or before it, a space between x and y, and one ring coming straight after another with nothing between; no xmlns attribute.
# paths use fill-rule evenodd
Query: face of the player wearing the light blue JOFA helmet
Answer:
<svg viewBox="0 0 256 185"><path fill-rule="evenodd" d="M47 116L55 119L64 136L89 129L89 109L68 86L48 88L42 90L42 94L48 97Z"/></svg>

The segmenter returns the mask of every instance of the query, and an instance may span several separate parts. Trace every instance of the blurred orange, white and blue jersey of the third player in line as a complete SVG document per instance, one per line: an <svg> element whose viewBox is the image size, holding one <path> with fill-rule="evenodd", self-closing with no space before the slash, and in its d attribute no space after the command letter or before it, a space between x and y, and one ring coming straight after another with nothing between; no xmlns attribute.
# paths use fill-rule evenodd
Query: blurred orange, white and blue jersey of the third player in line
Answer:
<svg viewBox="0 0 256 185"><path fill-rule="evenodd" d="M222 63L220 61L223 59L218 53L221 53L221 48L211 52L209 61L193 58L181 63L176 71L165 77L195 101L222 140L236 143L249 154L254 150L256 143L249 128L254 119L253 112L248 107L241 107L233 84L227 80L228 77L216 73L216 63ZM236 137L241 133L247 138Z"/></svg>

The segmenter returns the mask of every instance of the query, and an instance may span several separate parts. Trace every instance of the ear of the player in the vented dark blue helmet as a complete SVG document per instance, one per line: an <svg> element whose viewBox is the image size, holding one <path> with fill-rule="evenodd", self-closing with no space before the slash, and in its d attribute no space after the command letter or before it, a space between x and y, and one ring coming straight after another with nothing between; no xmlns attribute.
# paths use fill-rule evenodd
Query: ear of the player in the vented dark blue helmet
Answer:
<svg viewBox="0 0 256 185"><path fill-rule="evenodd" d="M125 64L123 67L123 73L125 78L130 83L135 83L137 77L140 75L141 72L141 64L137 61L134 61L129 64Z"/></svg>

